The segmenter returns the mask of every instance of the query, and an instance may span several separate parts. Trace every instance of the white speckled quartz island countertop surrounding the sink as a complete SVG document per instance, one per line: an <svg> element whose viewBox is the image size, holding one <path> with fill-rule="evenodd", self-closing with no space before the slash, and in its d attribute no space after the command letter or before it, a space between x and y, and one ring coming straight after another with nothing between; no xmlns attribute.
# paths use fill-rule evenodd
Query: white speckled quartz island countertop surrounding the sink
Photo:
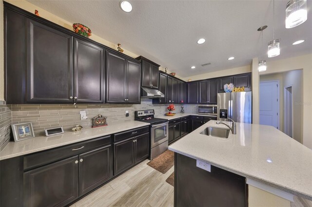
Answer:
<svg viewBox="0 0 312 207"><path fill-rule="evenodd" d="M311 149L267 125L237 123L236 135L230 132L229 138L200 134L208 126L227 128L215 122L202 125L169 149L312 200Z"/></svg>

